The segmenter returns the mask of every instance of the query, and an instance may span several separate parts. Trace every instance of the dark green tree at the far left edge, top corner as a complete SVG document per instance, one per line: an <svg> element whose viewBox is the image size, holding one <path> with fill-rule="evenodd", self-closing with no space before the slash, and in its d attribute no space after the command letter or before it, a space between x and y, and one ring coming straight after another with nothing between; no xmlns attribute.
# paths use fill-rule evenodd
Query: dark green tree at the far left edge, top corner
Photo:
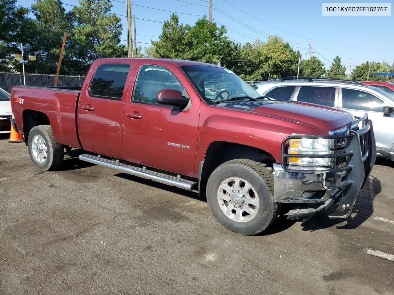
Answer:
<svg viewBox="0 0 394 295"><path fill-rule="evenodd" d="M17 66L13 55L20 54L20 42L29 28L29 9L17 6L16 0L0 1L0 71Z"/></svg>

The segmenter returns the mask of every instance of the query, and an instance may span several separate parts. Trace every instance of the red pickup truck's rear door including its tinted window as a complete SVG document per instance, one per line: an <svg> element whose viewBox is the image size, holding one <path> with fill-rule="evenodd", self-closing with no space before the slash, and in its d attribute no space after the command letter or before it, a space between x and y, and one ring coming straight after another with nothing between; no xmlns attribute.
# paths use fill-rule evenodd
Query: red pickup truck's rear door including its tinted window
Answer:
<svg viewBox="0 0 394 295"><path fill-rule="evenodd" d="M86 77L91 81L81 90L78 104L78 134L85 150L123 157L122 116L132 66L102 63Z"/></svg>

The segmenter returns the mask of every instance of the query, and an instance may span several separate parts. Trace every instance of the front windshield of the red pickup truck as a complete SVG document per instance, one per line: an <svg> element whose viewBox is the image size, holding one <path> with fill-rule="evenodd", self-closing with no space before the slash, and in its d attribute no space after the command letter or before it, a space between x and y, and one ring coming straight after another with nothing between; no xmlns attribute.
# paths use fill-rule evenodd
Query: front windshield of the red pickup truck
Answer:
<svg viewBox="0 0 394 295"><path fill-rule="evenodd" d="M260 94L236 74L222 67L181 66L185 74L210 105L232 98L258 98Z"/></svg>

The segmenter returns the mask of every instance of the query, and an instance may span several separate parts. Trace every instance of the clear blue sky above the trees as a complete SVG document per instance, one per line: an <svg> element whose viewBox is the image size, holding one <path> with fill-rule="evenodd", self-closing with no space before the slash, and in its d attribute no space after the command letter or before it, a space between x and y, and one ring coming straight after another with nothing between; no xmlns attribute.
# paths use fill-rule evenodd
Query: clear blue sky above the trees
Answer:
<svg viewBox="0 0 394 295"><path fill-rule="evenodd" d="M112 12L126 15L126 0L111 0ZM120 1L120 2L119 2ZM190 2L190 3L186 3ZM299 49L306 59L309 50L309 39L312 40L313 53L326 67L336 55L342 58L342 65L349 67L350 59L353 66L364 61L394 61L394 16L322 16L322 2L316 0L212 0L214 21L227 27L227 36L238 42L253 42L260 38L266 40L266 35L278 35L288 41L294 49ZM328 2L328 1L324 1ZM346 1L347 3L359 1ZM369 3L383 1L369 0ZM387 1L386 1L387 2ZM18 0L18 4L30 7L33 0ZM191 4L193 3L193 4ZM63 4L78 5L78 0L64 0ZM132 0L132 13L136 18L156 20L162 22L169 19L171 12L149 9L141 6L175 11L183 24L194 24L200 18L194 15L208 15L208 1L205 0ZM234 6L232 6L232 5ZM235 22L220 13L216 7L228 13L244 25ZM71 6L64 5L66 9ZM237 9L260 18L264 22ZM186 15L181 13L189 13ZM126 40L126 18L120 17L123 24L122 39ZM255 29L249 30L246 27ZM276 28L275 28L276 27ZM162 24L136 19L137 43L148 47L151 40L157 40L162 31ZM256 31L258 30L258 31ZM260 31L260 32L259 32ZM261 33L262 32L262 33ZM264 34L263 34L264 33ZM126 44L125 41L122 41ZM301 43L301 44L297 44ZM352 68L353 68L352 66Z"/></svg>

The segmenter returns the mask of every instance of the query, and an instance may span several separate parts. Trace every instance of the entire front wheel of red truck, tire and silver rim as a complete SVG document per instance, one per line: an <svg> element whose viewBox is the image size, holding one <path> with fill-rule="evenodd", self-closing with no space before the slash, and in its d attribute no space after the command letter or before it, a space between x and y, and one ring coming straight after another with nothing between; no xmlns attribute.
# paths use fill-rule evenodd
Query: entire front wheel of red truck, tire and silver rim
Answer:
<svg viewBox="0 0 394 295"><path fill-rule="evenodd" d="M277 216L272 174L248 159L230 160L217 167L208 179L206 199L221 225L248 236L267 229Z"/></svg>

